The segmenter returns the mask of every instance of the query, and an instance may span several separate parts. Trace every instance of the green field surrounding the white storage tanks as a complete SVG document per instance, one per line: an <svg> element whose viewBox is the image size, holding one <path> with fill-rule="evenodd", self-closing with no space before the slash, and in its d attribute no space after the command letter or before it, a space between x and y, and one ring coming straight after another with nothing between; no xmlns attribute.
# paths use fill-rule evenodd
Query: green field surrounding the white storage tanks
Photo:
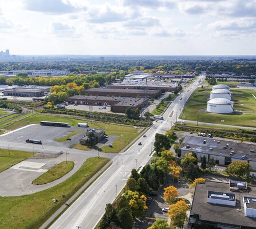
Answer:
<svg viewBox="0 0 256 229"><path fill-rule="evenodd" d="M234 109L242 112L240 115L222 115L206 113L207 100L210 99L211 88L200 88L195 91L180 116L181 119L193 120L204 123L240 125L244 127L256 127L256 100L251 93L254 90L231 89L234 101ZM220 121L224 120L224 122Z"/></svg>

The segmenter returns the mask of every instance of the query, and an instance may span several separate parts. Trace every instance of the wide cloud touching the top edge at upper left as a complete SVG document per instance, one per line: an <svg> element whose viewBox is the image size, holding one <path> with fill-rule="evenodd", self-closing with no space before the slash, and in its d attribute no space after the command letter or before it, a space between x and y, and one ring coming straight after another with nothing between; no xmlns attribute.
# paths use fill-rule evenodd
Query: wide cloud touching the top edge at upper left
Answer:
<svg viewBox="0 0 256 229"><path fill-rule="evenodd" d="M64 0L23 0L23 7L26 10L45 14L66 14L78 10L77 7Z"/></svg>

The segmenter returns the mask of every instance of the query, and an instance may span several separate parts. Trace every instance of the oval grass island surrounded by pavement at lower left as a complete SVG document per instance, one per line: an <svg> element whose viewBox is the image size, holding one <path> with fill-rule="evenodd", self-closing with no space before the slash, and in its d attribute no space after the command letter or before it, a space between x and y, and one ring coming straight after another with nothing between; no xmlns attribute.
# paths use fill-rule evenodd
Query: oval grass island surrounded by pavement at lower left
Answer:
<svg viewBox="0 0 256 229"><path fill-rule="evenodd" d="M66 175L74 167L73 161L62 161L61 163L50 168L47 172L38 176L36 180L33 180L33 184L47 184L54 180L59 179L60 177Z"/></svg>

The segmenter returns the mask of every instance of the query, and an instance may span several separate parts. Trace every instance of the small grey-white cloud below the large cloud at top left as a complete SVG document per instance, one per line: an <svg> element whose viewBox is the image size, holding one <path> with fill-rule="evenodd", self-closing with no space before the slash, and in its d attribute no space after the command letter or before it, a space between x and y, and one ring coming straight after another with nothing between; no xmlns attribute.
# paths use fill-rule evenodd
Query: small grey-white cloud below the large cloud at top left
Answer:
<svg viewBox="0 0 256 229"><path fill-rule="evenodd" d="M73 26L70 26L62 22L52 22L48 26L49 33L53 33L58 37L74 37L76 36L76 30Z"/></svg>

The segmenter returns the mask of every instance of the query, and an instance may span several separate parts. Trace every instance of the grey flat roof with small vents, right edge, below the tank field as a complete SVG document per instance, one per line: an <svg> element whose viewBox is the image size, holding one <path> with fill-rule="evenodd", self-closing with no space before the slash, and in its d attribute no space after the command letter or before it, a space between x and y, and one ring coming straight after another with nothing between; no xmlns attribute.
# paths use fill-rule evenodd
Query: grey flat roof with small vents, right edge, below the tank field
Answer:
<svg viewBox="0 0 256 229"><path fill-rule="evenodd" d="M206 140L206 144L203 143L204 140ZM228 147L227 144L229 144ZM187 145L190 148L187 148ZM216 140L210 137L186 136L180 145L180 149L218 156L230 156L231 151L234 151L233 156L231 156L234 159L243 160L242 157L247 156L245 160L256 161L256 144Z"/></svg>

